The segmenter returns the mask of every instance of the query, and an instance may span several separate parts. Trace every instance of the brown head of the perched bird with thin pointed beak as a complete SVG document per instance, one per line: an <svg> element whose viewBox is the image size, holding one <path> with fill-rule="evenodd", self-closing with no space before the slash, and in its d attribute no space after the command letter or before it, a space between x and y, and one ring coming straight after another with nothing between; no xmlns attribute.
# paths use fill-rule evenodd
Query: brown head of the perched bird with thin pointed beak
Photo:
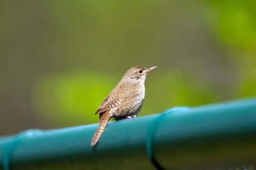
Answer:
<svg viewBox="0 0 256 170"><path fill-rule="evenodd" d="M139 83L139 82L144 83L146 80L146 76L153 69L156 69L156 67L149 67L149 68L141 67L141 66L132 67L125 73L125 75L122 78L122 81L129 81L130 83Z"/></svg>

